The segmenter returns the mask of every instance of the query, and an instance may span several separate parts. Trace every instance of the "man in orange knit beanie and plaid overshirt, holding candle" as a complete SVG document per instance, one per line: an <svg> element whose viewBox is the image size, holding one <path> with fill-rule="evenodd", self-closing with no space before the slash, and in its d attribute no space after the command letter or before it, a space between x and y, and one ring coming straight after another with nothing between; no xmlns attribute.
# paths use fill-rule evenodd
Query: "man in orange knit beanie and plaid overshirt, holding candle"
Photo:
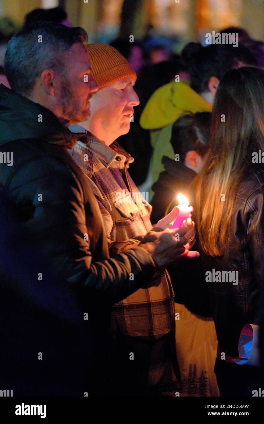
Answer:
<svg viewBox="0 0 264 424"><path fill-rule="evenodd" d="M115 141L129 131L133 108L139 104L133 89L136 73L114 47L90 44L88 52L91 74L99 90L90 101L89 119L69 126L72 132L88 134L89 142L78 142L70 153L97 198L109 245L120 242L125 250L128 245L139 243L152 228L152 208L128 172L134 159ZM172 210L156 227L170 228L177 212ZM192 225L185 237L193 244ZM189 243L186 247L190 248ZM188 256L195 253L189 252ZM111 396L175 396L180 376L175 351L174 294L166 270L156 274L147 288L113 306L110 346L107 391Z"/></svg>

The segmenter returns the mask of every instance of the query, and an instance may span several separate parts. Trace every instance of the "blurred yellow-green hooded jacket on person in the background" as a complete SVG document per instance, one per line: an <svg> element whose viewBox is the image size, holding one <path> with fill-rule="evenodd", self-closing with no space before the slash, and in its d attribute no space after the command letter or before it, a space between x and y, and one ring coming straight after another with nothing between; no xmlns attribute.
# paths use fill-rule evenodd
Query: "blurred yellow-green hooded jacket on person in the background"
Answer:
<svg viewBox="0 0 264 424"><path fill-rule="evenodd" d="M211 112L211 105L197 94L187 81L172 81L158 88L148 100L140 117L140 125L150 130L153 156L150 164L152 183L164 171L162 156L175 159L170 144L172 124L181 115L195 112ZM151 199L153 192L149 192Z"/></svg>

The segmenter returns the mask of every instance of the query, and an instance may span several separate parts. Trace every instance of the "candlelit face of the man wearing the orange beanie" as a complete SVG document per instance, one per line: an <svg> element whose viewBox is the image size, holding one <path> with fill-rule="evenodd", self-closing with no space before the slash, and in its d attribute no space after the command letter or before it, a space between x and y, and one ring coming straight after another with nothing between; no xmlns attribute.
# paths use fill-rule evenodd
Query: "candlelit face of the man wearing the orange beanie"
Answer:
<svg viewBox="0 0 264 424"><path fill-rule="evenodd" d="M133 78L124 78L101 88L91 99L89 131L107 145L130 129L133 108L139 104L133 85Z"/></svg>

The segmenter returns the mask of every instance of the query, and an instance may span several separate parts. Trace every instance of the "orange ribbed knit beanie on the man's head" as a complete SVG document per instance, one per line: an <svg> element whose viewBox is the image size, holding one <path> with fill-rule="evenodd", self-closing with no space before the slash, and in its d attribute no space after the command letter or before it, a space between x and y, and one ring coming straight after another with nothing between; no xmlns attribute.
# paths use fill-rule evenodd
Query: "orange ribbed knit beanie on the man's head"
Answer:
<svg viewBox="0 0 264 424"><path fill-rule="evenodd" d="M108 44L88 44L91 61L91 75L99 88L106 87L115 81L132 77L136 81L136 73L119 51Z"/></svg>

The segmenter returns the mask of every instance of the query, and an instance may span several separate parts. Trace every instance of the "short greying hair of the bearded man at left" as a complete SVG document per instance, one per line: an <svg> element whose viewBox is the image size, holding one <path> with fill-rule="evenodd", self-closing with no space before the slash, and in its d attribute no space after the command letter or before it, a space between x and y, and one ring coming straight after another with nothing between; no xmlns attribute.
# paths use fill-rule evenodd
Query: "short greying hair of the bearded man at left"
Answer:
<svg viewBox="0 0 264 424"><path fill-rule="evenodd" d="M28 97L45 69L64 73L67 53L76 42L87 45L83 28L69 28L54 22L27 25L8 42L4 68L16 93Z"/></svg>

